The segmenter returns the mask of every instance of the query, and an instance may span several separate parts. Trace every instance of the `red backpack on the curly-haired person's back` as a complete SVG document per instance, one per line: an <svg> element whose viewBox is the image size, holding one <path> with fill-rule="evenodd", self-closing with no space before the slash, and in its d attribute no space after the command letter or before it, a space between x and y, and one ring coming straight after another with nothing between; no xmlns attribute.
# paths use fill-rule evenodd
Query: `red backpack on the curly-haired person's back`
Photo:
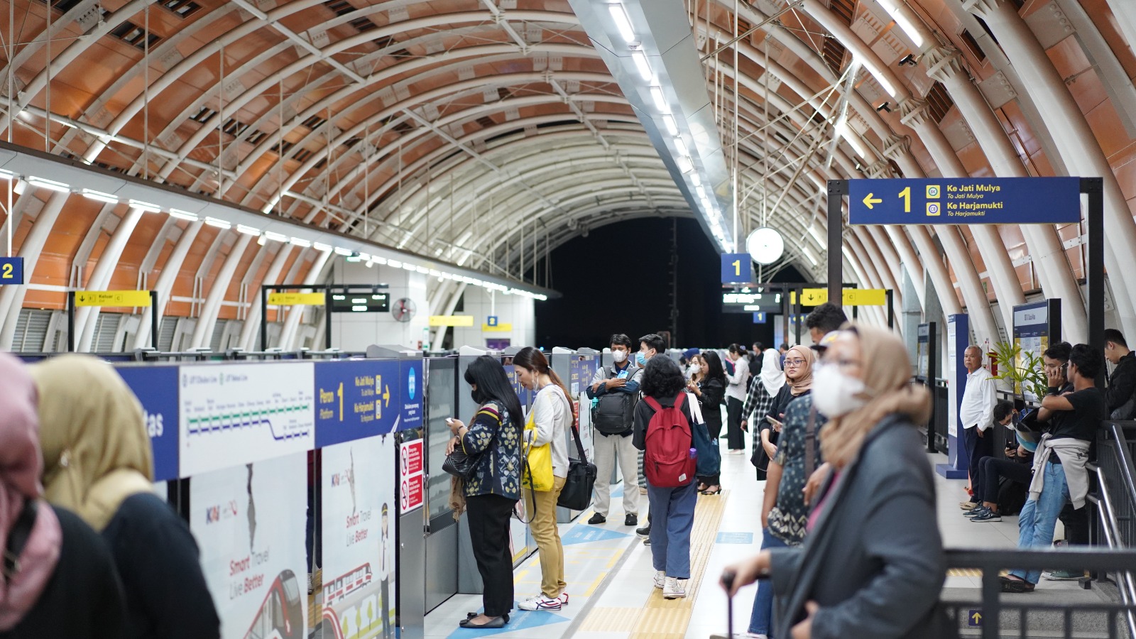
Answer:
<svg viewBox="0 0 1136 639"><path fill-rule="evenodd" d="M678 488L691 483L696 460L691 457L691 424L682 410L686 393L679 392L675 405L667 408L652 397L644 399L654 409L654 415L646 425L643 473L657 488Z"/></svg>

